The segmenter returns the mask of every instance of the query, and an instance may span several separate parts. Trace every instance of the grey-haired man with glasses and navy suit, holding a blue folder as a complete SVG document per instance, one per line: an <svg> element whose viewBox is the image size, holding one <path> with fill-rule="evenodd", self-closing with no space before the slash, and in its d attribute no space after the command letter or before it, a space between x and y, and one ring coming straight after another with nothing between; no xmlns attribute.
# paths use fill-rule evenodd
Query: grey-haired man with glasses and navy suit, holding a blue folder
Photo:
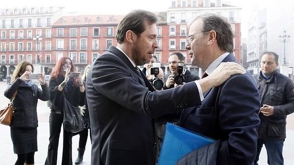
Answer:
<svg viewBox="0 0 294 165"><path fill-rule="evenodd" d="M203 78L210 76L221 62L236 61L234 34L227 19L212 13L201 14L189 23L188 29L186 49L193 52L192 65L205 70ZM180 127L220 140L216 157L209 157L208 152L208 157L202 155L205 159L218 165L252 165L260 124L260 97L252 75L233 75L205 92L204 97L201 105L183 110ZM198 151L190 152L178 163L187 162L188 157L192 158L189 162L201 161Z"/></svg>

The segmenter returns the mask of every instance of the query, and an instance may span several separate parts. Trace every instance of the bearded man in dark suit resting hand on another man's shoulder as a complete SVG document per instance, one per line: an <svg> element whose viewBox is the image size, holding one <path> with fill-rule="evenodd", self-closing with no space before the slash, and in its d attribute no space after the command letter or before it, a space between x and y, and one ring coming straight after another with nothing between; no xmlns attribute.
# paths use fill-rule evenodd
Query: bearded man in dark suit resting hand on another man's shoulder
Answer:
<svg viewBox="0 0 294 165"><path fill-rule="evenodd" d="M153 117L200 104L202 92L245 73L234 62L223 63L206 79L155 91L137 65L149 62L158 48L156 18L144 10L126 14L117 28L117 47L110 46L88 70L92 165L154 165Z"/></svg>

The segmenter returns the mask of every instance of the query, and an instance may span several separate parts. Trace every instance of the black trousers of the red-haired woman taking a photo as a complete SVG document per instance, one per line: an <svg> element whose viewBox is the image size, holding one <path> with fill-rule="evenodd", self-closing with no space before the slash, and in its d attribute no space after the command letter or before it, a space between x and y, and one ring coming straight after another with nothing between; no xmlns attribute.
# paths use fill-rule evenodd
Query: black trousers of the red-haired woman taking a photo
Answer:
<svg viewBox="0 0 294 165"><path fill-rule="evenodd" d="M50 137L48 146L48 155L45 164L56 165L57 164L57 150L59 135L63 122L63 114L50 113L49 127ZM63 131L63 150L62 150L62 165L72 165L72 137L73 133Z"/></svg>

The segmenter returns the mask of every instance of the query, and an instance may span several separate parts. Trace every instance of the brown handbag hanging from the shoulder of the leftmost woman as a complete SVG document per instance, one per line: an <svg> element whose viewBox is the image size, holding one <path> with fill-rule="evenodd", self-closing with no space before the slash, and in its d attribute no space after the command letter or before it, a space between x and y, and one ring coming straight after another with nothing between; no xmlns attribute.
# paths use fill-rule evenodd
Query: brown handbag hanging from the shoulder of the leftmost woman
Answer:
<svg viewBox="0 0 294 165"><path fill-rule="evenodd" d="M12 99L10 100L10 103L8 106L6 106L4 109L0 110L0 124L9 126L11 124L12 120L12 112L13 112L13 101L15 99L17 91L13 94Z"/></svg>

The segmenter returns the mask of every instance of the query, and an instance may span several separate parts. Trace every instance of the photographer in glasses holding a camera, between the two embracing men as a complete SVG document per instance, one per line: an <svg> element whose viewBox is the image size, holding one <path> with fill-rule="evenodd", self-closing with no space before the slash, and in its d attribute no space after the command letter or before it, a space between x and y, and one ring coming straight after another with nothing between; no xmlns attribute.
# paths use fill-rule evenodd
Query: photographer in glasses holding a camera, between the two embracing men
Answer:
<svg viewBox="0 0 294 165"><path fill-rule="evenodd" d="M184 69L184 62L185 57L182 53L174 52L169 55L168 65L171 74L164 75L164 90L200 79L198 76L191 74L188 69Z"/></svg>

